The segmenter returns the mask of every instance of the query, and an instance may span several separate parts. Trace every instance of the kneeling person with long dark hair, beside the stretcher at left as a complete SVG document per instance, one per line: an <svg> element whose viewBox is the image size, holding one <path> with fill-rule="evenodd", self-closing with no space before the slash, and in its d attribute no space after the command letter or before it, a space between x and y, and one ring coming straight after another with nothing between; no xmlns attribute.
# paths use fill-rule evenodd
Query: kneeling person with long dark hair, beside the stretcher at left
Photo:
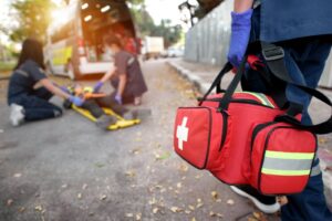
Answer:
<svg viewBox="0 0 332 221"><path fill-rule="evenodd" d="M34 39L27 39L8 86L10 122L13 126L19 126L24 120L61 116L62 109L49 103L53 95L69 99L76 106L84 102L55 86L45 75L43 61L42 44Z"/></svg>

